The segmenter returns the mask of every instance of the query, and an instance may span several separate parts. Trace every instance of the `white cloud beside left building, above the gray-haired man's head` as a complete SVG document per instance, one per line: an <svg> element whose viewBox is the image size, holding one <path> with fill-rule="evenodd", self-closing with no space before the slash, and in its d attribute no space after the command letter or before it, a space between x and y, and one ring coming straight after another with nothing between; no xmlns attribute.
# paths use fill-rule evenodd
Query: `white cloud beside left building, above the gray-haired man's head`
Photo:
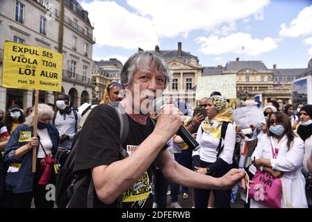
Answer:
<svg viewBox="0 0 312 222"><path fill-rule="evenodd" d="M115 1L82 2L95 23L93 35L98 46L117 46L124 49L151 49L159 44L156 27L151 19L131 13Z"/></svg>

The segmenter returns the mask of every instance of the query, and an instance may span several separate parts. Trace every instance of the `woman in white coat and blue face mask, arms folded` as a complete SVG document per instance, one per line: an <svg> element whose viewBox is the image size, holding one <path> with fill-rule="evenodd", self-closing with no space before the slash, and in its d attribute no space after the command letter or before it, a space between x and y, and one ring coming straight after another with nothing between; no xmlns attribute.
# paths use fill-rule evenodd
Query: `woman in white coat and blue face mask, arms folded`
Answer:
<svg viewBox="0 0 312 222"><path fill-rule="evenodd" d="M254 166L281 179L281 208L307 208L305 180L302 175L304 142L295 137L290 119L284 112L273 112L268 118L267 135L263 135L252 155ZM251 200L251 208L265 208Z"/></svg>

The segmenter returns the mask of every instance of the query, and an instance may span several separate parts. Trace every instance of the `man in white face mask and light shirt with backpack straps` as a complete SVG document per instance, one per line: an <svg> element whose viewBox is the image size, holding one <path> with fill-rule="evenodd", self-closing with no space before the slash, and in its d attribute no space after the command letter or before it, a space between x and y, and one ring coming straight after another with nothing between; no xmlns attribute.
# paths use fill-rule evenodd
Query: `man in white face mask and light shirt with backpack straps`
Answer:
<svg viewBox="0 0 312 222"><path fill-rule="evenodd" d="M60 133L60 147L70 149L74 135L79 129L81 114L69 106L69 96L60 94L56 101L58 111L54 113L53 123Z"/></svg>

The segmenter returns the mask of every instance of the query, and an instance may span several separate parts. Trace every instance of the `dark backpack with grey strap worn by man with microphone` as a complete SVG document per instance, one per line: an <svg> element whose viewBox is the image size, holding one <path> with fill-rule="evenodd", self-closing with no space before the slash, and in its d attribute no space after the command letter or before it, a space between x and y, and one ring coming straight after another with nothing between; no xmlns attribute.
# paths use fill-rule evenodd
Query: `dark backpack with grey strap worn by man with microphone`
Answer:
<svg viewBox="0 0 312 222"><path fill-rule="evenodd" d="M114 108L115 112L117 113L120 119L120 155L122 156L121 159L128 156L128 153L122 147L122 144L126 142L126 137L129 133L129 120L124 111L122 105L119 105L119 102L110 102L106 103L110 107ZM60 208L65 208L69 204L69 200L74 194L74 189L79 187L81 183L85 182L85 180L90 180L89 187L88 187L88 200L87 200L87 207L93 207L93 193L94 193L94 185L92 181L91 173L85 173L84 176L78 178L74 175L74 162L76 159L76 150L77 144L79 144L79 135L81 130L76 133L74 136L74 141L72 143L72 151L70 152L64 166L60 169L58 176L56 178L56 205ZM121 196L120 196L121 197ZM118 201L121 207L122 201Z"/></svg>

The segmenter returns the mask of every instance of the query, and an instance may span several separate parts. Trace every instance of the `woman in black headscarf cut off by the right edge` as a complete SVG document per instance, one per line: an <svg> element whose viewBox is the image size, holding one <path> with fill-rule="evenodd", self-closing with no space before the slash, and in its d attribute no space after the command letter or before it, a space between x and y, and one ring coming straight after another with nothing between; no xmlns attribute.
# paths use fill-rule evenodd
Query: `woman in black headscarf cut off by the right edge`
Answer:
<svg viewBox="0 0 312 222"><path fill-rule="evenodd" d="M312 205L312 187L309 187L309 169L307 166L307 162L312 152L312 105L304 105L299 111L299 127L297 129L297 134L304 141L304 160L303 160L303 169L302 173L306 177L306 198L308 199L309 205ZM308 180L307 180L308 179ZM311 178L310 178L310 186L311 186Z"/></svg>

